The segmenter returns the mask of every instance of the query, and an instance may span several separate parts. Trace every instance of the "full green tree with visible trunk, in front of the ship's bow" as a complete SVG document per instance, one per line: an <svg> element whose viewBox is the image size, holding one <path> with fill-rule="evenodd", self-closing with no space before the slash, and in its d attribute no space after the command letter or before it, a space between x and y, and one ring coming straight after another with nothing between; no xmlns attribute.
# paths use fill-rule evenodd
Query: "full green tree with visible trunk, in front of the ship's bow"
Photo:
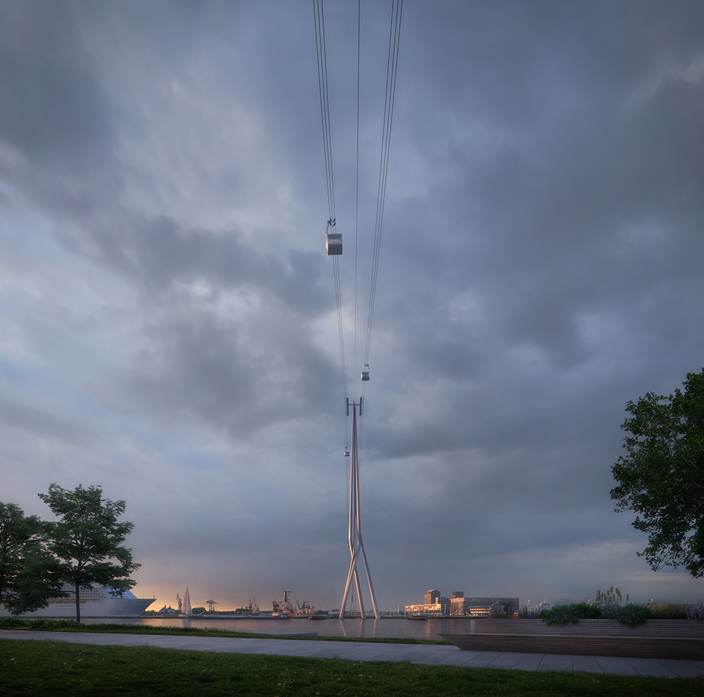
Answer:
<svg viewBox="0 0 704 697"><path fill-rule="evenodd" d="M73 586L76 622L80 622L81 588L100 584L120 596L137 583L128 576L140 565L132 561L132 550L121 546L134 524L118 521L125 502L103 499L99 486L79 485L69 491L51 484L49 493L39 498L59 518L44 526L46 545L63 564L63 580Z"/></svg>

